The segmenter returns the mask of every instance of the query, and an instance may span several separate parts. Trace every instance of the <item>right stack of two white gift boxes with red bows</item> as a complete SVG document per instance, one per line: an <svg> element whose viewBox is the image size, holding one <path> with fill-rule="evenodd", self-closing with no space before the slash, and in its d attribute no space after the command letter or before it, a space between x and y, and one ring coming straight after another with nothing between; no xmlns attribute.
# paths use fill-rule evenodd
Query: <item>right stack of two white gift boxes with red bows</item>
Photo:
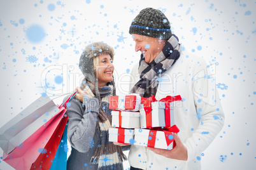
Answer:
<svg viewBox="0 0 256 170"><path fill-rule="evenodd" d="M180 95L166 96L159 101L151 96L140 105L141 129L134 129L134 145L173 149L173 133L179 132L174 124L174 101L181 101Z"/></svg>

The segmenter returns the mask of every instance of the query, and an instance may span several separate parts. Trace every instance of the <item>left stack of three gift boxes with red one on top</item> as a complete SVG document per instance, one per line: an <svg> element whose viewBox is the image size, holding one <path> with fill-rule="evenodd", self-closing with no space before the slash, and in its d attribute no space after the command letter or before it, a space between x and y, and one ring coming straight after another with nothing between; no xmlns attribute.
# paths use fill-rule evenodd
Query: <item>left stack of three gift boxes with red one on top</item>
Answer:
<svg viewBox="0 0 256 170"><path fill-rule="evenodd" d="M138 94L110 96L112 126L109 141L134 143L134 128L140 128L139 106L146 98Z"/></svg>

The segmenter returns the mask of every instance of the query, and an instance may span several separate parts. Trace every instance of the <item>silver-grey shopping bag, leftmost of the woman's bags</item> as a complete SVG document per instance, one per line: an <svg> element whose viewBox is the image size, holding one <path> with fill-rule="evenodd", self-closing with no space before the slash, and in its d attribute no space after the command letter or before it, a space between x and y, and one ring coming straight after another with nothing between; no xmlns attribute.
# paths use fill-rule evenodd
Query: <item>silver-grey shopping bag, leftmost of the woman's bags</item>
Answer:
<svg viewBox="0 0 256 170"><path fill-rule="evenodd" d="M0 128L0 147L9 154L60 109L48 96L41 96Z"/></svg>

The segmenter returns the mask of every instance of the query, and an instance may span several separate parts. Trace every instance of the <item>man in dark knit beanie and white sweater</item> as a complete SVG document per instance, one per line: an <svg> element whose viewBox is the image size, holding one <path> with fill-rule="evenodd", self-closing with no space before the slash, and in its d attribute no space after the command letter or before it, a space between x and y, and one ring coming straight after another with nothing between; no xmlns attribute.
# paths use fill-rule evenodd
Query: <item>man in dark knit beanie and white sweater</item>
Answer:
<svg viewBox="0 0 256 170"><path fill-rule="evenodd" d="M132 169L201 169L201 153L224 125L224 112L215 91L206 62L181 51L178 37L172 34L169 20L160 10L145 8L132 20L129 33L135 51L141 51L139 63L132 69L136 84L131 93L157 100L180 95L174 105L173 150L132 145L129 163Z"/></svg>

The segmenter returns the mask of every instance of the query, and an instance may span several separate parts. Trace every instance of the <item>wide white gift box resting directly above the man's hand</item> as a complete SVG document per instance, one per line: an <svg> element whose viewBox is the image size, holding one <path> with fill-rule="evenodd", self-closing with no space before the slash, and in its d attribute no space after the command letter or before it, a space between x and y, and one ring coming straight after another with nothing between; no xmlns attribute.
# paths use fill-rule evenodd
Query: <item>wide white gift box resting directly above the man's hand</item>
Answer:
<svg viewBox="0 0 256 170"><path fill-rule="evenodd" d="M155 135L154 147L148 145L148 139L152 135ZM153 147L153 148L162 148L167 150L173 149L173 142L167 146L166 137L163 131L153 131L153 133L150 134L150 129L134 129L134 145L141 145L144 147Z"/></svg>

